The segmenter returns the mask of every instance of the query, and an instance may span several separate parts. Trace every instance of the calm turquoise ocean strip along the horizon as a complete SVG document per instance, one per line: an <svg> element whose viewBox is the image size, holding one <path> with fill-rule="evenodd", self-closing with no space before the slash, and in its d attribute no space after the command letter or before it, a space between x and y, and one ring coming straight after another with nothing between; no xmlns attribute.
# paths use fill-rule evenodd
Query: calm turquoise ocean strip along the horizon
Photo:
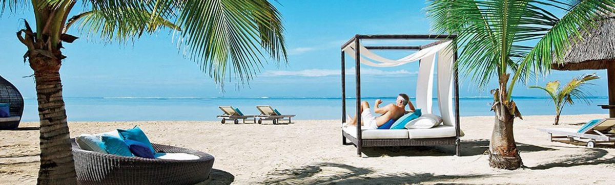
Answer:
<svg viewBox="0 0 615 185"><path fill-rule="evenodd" d="M363 97L370 105L376 99L383 104L396 97ZM415 102L415 99L411 99ZM554 115L548 97L514 97L522 115ZM606 114L597 107L607 104L608 97L590 97L590 104L576 100L563 109L562 115ZM212 121L222 112L220 105L239 108L244 114L258 114L256 105L271 105L295 119L341 119L341 97L65 97L68 121ZM492 97L460 97L461 116L491 116ZM355 99L346 99L347 113L354 115ZM437 99L434 112L438 113ZM36 99L25 99L23 121L38 121Z"/></svg>

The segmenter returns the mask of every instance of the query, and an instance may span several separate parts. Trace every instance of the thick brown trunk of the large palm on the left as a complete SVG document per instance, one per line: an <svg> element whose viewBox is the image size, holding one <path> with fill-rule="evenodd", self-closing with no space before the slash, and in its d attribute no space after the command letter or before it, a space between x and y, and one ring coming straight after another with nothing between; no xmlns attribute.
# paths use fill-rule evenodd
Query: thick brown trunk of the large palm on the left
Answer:
<svg viewBox="0 0 615 185"><path fill-rule="evenodd" d="M54 53L59 54L60 51ZM29 52L41 121L41 168L38 184L76 184L73 153L60 80L61 61Z"/></svg>

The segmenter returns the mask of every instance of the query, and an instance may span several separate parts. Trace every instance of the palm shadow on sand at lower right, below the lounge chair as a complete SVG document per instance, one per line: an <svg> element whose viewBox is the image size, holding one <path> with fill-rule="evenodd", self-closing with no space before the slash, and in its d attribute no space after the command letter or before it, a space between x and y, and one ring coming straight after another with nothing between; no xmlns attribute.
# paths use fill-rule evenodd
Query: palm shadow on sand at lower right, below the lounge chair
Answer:
<svg viewBox="0 0 615 185"><path fill-rule="evenodd" d="M560 157L558 160L554 160L553 162L549 162L547 164L539 164L535 167L526 167L531 170L547 170L555 167L575 167L580 165L600 165L600 164L615 164L615 157L611 157L609 159L605 159L604 157L608 154L608 151L605 149L599 148L584 148L586 153L579 154L570 154L563 157Z"/></svg>

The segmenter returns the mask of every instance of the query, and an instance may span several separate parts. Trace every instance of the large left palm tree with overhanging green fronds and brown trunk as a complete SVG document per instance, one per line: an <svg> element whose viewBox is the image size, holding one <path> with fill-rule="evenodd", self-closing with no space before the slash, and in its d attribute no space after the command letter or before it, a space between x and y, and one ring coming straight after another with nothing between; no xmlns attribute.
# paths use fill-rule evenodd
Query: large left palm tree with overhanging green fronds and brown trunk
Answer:
<svg viewBox="0 0 615 185"><path fill-rule="evenodd" d="M1 12L31 7L17 38L34 70L41 133L39 184L76 184L60 67L72 29L105 41L132 42L161 29L181 31L179 48L216 83L250 80L266 59L286 60L280 13L267 0L0 0ZM81 6L81 12L74 7ZM69 17L72 16L72 17ZM73 26L77 24L79 26Z"/></svg>

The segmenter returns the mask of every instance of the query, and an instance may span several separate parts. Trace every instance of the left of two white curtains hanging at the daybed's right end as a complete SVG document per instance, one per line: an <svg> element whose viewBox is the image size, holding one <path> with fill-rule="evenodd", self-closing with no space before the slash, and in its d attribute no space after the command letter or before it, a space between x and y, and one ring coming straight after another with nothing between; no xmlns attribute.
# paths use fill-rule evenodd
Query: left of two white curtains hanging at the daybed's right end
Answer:
<svg viewBox="0 0 615 185"><path fill-rule="evenodd" d="M416 78L416 108L421 108L422 113L432 113L432 99L434 98L434 63L435 55L429 55L421 59L419 75Z"/></svg>

